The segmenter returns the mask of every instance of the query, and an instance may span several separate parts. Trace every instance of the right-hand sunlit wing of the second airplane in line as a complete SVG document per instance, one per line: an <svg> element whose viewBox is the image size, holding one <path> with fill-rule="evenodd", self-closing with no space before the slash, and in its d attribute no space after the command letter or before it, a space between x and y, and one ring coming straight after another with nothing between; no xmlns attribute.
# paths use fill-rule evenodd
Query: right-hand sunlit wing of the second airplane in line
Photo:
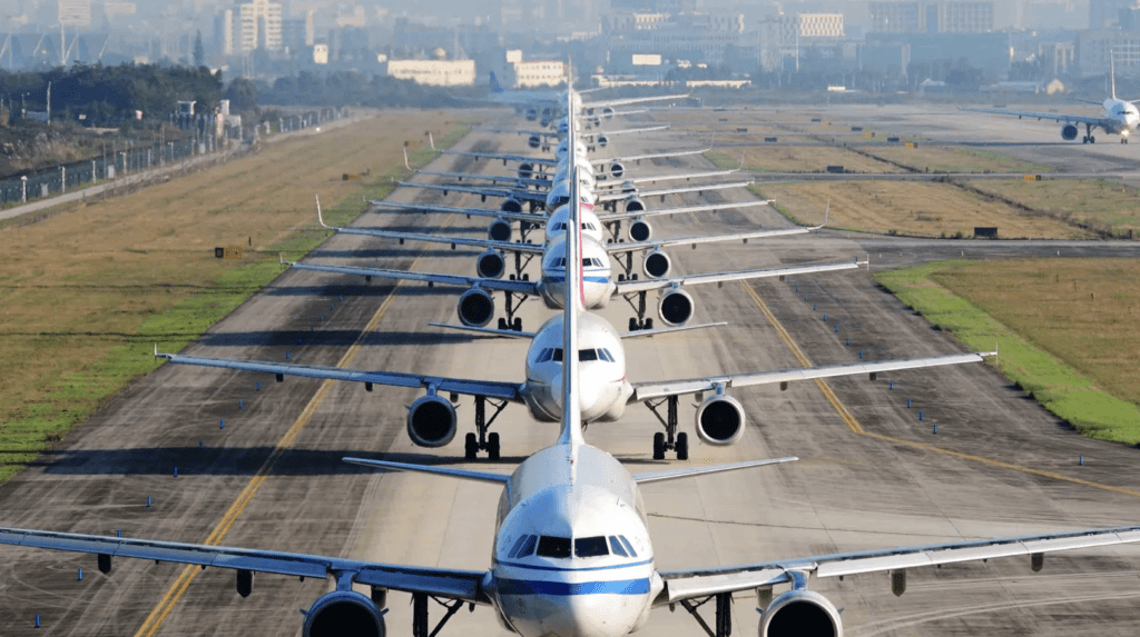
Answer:
<svg viewBox="0 0 1140 637"><path fill-rule="evenodd" d="M715 391L719 388L750 387L755 384L784 384L793 380L812 380L821 378L852 377L869 374L872 379L880 372L896 370L918 370L938 367L942 365L960 365L963 363L980 363L984 356L996 356L996 351L977 351L974 354L951 354L947 356L929 356L926 358L904 358L882 361L879 363L849 363L845 365L821 365L817 367L793 367L790 370L771 370L767 372L746 372L685 380L668 380L661 382L634 383L630 403L640 403L651 398L666 396L684 396L701 391Z"/></svg>

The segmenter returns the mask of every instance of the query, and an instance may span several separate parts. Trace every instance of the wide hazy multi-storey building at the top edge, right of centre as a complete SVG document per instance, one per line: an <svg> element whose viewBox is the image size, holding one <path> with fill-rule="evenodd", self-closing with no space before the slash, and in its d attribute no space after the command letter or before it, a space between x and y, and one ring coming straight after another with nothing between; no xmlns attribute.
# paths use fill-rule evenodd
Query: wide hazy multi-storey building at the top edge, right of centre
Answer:
<svg viewBox="0 0 1140 637"><path fill-rule="evenodd" d="M975 0L868 2L870 33L988 33L994 3Z"/></svg>

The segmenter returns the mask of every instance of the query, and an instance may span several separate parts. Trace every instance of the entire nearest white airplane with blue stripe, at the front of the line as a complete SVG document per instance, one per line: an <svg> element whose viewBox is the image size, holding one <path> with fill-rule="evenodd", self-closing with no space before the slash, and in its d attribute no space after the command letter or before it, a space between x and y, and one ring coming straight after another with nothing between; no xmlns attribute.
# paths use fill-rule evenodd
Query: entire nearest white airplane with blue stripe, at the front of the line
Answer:
<svg viewBox="0 0 1140 637"><path fill-rule="evenodd" d="M580 263L575 239L565 245L567 263ZM568 303L559 342L564 351L583 348L578 321L588 313L575 286L580 276L578 272L567 278ZM588 372L571 356L557 377L559 438L511 474L343 458L383 471L499 486L490 566L484 571L33 529L0 528L0 544L93 554L103 573L111 572L116 556L230 569L236 571L237 593L243 597L253 590L254 572L333 580L335 589L302 612L303 637L383 637L389 590L412 595L413 637L437 635L464 605L492 609L502 624L521 637L621 637L642 628L652 609L678 603L711 637L730 637L732 595L749 590L756 592L759 603L759 637L841 637L841 611L811 589L813 577L890 573L893 590L902 595L909 569L1029 556L1032 569L1039 571L1049 552L1140 541L1140 527L1132 526L662 571L657 566L641 485L797 458L630 474L617 458L583 438L583 382ZM370 595L355 590L353 585L370 587ZM777 595L775 587L788 589ZM447 609L434 628L429 598ZM716 602L715 631L694 610L710 599Z"/></svg>

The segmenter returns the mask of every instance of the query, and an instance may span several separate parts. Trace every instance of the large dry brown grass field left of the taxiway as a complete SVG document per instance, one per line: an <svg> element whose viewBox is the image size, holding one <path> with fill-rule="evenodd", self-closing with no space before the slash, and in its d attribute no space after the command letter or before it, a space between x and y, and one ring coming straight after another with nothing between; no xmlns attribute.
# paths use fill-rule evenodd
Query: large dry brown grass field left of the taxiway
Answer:
<svg viewBox="0 0 1140 637"><path fill-rule="evenodd" d="M130 356L146 356L132 336L148 320L219 288L238 288L221 290L235 298L253 291L241 289L253 283L235 273L251 260L276 267L276 254L256 250L315 226L314 195L331 207L359 193L361 183L343 181L343 173L370 168L366 179L380 180L402 171L405 141L418 141L427 130L439 140L471 116L384 111L318 135L268 143L255 155L127 197L0 229L5 447L34 448L52 435L41 433L44 428L67 414L82 417L129 380L114 370L104 374L103 367L124 346L139 350ZM215 246L230 245L247 250L244 263L213 258ZM174 322L173 330L187 333L171 340L193 338L210 321Z"/></svg>

